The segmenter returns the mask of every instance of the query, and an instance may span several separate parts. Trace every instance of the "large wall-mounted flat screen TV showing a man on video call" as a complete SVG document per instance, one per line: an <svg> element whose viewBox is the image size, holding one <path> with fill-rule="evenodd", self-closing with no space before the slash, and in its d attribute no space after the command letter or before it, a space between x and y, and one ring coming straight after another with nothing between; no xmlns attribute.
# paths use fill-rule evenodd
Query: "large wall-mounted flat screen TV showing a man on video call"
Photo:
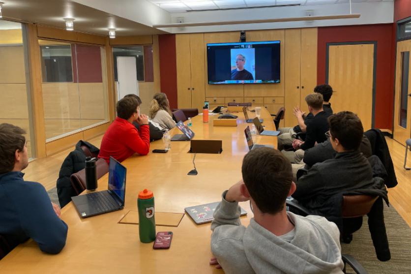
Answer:
<svg viewBox="0 0 411 274"><path fill-rule="evenodd" d="M207 44L208 84L280 83L280 41Z"/></svg>

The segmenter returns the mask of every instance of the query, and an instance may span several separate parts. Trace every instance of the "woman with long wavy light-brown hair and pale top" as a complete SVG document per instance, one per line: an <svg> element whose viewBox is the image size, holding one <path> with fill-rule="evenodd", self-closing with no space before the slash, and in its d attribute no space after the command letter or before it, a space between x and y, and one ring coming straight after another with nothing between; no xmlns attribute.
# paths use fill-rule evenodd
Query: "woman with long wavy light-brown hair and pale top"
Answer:
<svg viewBox="0 0 411 274"><path fill-rule="evenodd" d="M148 115L153 122L158 123L162 128L172 129L176 127L176 122L171 117L169 99L167 99L166 93L154 94Z"/></svg>

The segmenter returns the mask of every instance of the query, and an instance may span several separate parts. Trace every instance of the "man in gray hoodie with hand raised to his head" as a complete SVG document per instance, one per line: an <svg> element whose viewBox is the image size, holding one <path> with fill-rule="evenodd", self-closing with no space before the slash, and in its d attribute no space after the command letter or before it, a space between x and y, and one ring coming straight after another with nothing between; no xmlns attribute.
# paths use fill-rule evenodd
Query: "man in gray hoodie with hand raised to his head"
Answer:
<svg viewBox="0 0 411 274"><path fill-rule="evenodd" d="M225 273L343 273L340 233L324 217L286 212L294 193L290 161L259 148L242 163L243 180L223 192L211 223L211 265ZM250 200L254 217L241 225L238 202Z"/></svg>

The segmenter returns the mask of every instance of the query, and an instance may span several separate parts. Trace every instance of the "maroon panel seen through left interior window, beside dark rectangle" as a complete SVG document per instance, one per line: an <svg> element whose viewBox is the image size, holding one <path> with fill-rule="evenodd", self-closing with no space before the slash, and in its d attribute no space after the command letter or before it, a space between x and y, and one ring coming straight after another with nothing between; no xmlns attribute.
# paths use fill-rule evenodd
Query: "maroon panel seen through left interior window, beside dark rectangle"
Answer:
<svg viewBox="0 0 411 274"><path fill-rule="evenodd" d="M79 83L102 83L101 52L99 46L76 44Z"/></svg>

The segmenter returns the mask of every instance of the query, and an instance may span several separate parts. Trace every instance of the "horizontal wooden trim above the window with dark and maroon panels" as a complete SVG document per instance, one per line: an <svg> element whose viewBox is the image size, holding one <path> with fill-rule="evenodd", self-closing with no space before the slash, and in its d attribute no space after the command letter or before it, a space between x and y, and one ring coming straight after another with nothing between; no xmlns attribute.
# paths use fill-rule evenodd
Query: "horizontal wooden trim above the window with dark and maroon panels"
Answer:
<svg viewBox="0 0 411 274"><path fill-rule="evenodd" d="M107 36L37 25L37 37L105 45Z"/></svg>

